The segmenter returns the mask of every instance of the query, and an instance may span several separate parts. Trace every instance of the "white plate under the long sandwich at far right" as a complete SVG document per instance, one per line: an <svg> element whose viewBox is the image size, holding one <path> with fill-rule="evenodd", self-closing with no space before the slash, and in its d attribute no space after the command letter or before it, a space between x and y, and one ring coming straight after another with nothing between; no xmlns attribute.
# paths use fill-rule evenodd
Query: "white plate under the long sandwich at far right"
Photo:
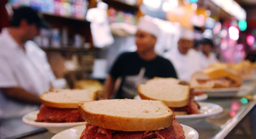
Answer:
<svg viewBox="0 0 256 139"><path fill-rule="evenodd" d="M195 89L195 91L206 91L208 97L234 97L239 91L245 90L247 90L246 86L236 88Z"/></svg>

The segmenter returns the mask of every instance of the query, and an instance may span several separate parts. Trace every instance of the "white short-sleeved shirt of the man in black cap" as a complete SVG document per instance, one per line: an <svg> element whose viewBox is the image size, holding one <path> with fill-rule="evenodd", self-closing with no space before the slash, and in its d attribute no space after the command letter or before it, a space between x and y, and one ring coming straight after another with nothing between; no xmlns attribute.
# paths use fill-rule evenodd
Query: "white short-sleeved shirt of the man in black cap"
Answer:
<svg viewBox="0 0 256 139"><path fill-rule="evenodd" d="M39 66L39 54L32 48L22 49L9 35L7 28L0 34L0 88L21 87L40 95L50 88L50 78ZM27 49L28 48L28 49ZM0 118L26 114L38 109L34 105L18 103L6 98L0 91Z"/></svg>

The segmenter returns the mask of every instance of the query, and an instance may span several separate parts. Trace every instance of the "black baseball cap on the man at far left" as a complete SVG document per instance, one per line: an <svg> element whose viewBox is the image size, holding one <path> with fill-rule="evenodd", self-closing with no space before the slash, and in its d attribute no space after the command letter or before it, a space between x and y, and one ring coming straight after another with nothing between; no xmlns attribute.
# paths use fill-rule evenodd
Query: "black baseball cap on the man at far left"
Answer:
<svg viewBox="0 0 256 139"><path fill-rule="evenodd" d="M13 16L11 17L10 25L18 27L20 21L25 19L28 24L36 24L39 28L50 28L50 25L45 22L35 9L28 6L21 6L17 9L13 9Z"/></svg>

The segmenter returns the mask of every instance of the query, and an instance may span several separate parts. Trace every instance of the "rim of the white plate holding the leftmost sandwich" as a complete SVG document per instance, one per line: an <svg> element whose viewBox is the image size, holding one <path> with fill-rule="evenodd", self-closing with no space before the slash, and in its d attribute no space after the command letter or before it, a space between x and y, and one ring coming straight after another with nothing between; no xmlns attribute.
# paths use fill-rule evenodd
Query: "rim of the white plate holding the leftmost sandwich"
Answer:
<svg viewBox="0 0 256 139"><path fill-rule="evenodd" d="M33 111L33 112L29 112L26 115L24 115L22 117L22 122L30 125L30 126L34 126L34 127L41 127L41 128L57 128L57 127L74 127L77 125L81 125L81 124L86 124L86 122L72 122L72 123L46 123L46 122L36 122L34 121L34 118L31 118L29 115L34 114L34 113L38 113L39 110L37 111Z"/></svg>

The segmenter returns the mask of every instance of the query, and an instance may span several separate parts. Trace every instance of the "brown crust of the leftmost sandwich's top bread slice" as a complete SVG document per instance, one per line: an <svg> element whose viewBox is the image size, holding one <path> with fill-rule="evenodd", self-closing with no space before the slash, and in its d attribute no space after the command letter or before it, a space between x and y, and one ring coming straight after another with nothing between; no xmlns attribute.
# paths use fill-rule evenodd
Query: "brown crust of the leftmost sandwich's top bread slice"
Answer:
<svg viewBox="0 0 256 139"><path fill-rule="evenodd" d="M93 100L97 99L97 95L98 95L99 91L94 91L93 93ZM52 101L48 101L45 100L43 98L43 95L47 94L47 93L51 93L51 92L44 92L40 95L40 99L42 101L42 103L48 107L54 107L54 108L69 108L69 109L77 109L77 102L68 102L68 103L64 103L64 102L52 102Z"/></svg>

